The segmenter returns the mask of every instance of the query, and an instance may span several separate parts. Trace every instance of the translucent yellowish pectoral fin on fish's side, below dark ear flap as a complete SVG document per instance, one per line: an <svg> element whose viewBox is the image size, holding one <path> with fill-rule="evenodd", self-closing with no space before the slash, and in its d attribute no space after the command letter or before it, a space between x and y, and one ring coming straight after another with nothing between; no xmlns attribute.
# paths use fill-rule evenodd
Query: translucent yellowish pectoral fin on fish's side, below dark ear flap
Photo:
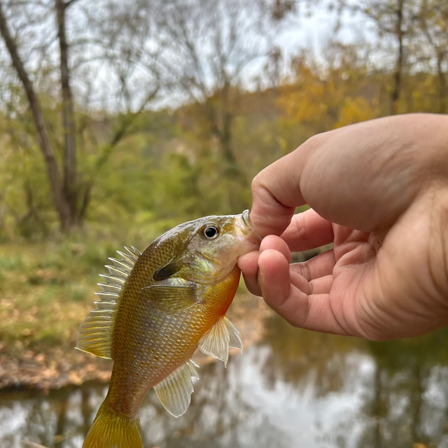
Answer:
<svg viewBox="0 0 448 448"><path fill-rule="evenodd" d="M159 310L168 314L178 313L190 308L190 306L202 303L196 297L196 287L194 285L153 284L143 288L140 295L151 301Z"/></svg>

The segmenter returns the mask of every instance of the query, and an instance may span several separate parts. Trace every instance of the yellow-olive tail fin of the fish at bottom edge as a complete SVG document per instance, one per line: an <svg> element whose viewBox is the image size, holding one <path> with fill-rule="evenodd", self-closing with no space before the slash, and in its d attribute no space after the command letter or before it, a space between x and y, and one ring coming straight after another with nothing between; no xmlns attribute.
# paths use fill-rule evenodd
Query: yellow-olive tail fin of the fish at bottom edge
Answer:
<svg viewBox="0 0 448 448"><path fill-rule="evenodd" d="M116 414L103 403L86 436L82 448L143 448L138 414Z"/></svg>

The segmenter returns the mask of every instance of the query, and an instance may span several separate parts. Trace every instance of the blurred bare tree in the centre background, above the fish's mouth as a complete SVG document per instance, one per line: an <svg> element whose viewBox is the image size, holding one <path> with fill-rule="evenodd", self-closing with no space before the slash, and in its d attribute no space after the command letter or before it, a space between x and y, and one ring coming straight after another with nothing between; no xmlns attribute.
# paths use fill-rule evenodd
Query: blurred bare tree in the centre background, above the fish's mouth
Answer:
<svg viewBox="0 0 448 448"><path fill-rule="evenodd" d="M272 13L271 2L262 0L171 0L158 20L163 76L196 104L199 134L209 147L215 142L235 212L249 205L241 197L249 181L235 151L233 126L249 69L274 49L278 25Z"/></svg>

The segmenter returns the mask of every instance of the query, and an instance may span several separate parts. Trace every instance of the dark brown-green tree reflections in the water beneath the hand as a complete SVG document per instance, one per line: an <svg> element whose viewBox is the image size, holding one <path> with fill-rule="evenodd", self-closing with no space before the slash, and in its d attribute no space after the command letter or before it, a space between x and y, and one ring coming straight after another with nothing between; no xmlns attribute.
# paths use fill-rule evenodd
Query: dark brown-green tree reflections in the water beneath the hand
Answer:
<svg viewBox="0 0 448 448"><path fill-rule="evenodd" d="M271 388L282 379L299 392L312 385L316 398L325 397L350 390L359 372L359 366L350 365L350 354L369 355L375 370L358 379L366 389L360 412L346 415L328 437L349 447L351 431L360 424L358 448L409 448L413 443L435 448L448 432L446 340L448 327L420 338L375 343L303 331L272 316L262 341L271 347L263 371ZM439 403L427 396L431 390Z"/></svg>

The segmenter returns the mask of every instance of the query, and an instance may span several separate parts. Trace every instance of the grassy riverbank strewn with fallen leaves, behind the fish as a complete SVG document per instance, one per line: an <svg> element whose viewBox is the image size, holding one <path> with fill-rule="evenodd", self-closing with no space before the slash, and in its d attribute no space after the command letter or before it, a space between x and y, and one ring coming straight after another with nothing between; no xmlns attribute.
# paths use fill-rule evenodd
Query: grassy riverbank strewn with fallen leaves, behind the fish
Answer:
<svg viewBox="0 0 448 448"><path fill-rule="evenodd" d="M99 274L107 273L104 264L121 246L109 240L21 243L19 251L0 246L0 389L48 390L110 379L111 360L74 347L79 325L95 308ZM295 254L293 261L314 254ZM270 312L241 280L228 317L244 347L262 336ZM202 353L195 359L199 365L211 360Z"/></svg>

